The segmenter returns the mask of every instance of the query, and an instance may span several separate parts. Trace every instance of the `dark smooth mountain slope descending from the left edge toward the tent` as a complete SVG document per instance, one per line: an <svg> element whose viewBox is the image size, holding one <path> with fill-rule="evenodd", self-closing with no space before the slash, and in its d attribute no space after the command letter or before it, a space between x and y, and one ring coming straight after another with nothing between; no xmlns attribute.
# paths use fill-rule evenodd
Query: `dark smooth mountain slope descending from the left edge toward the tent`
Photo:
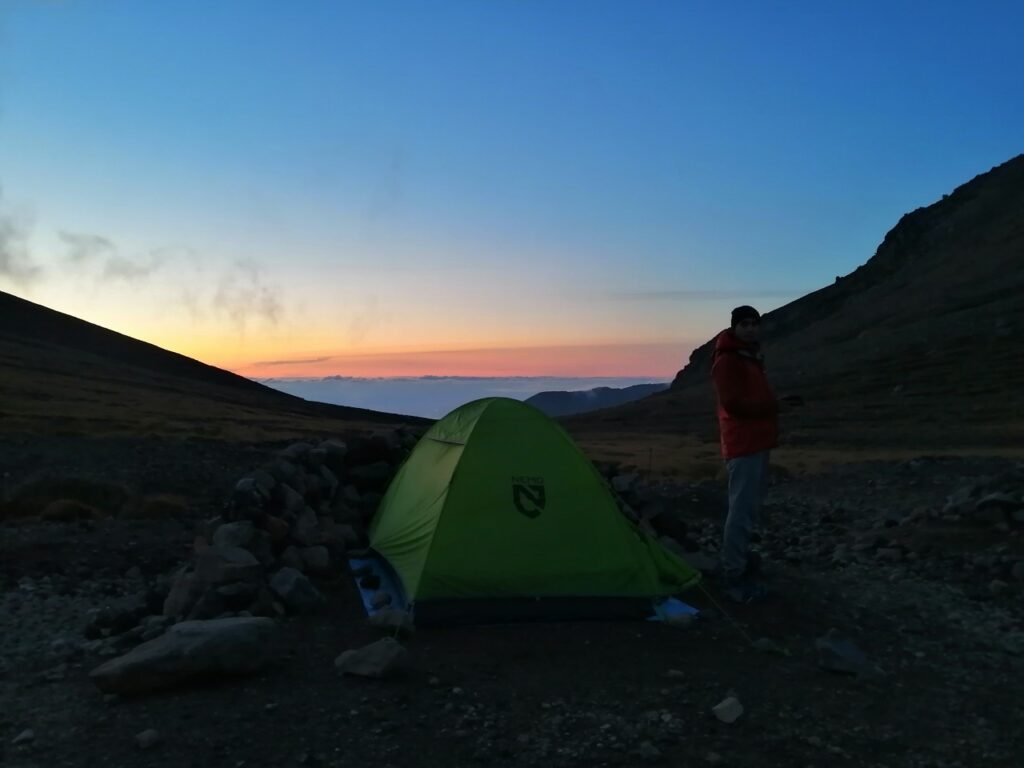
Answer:
<svg viewBox="0 0 1024 768"><path fill-rule="evenodd" d="M271 435L420 421L310 402L0 292L0 431Z"/></svg>

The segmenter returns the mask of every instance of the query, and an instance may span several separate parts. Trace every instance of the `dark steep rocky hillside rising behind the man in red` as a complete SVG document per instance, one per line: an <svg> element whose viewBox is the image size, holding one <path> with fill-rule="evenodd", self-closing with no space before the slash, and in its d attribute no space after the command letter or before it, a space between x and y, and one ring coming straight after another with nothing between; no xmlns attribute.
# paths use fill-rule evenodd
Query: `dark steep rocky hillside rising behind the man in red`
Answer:
<svg viewBox="0 0 1024 768"><path fill-rule="evenodd" d="M1024 156L904 215L876 254L763 321L769 376L807 408L791 444L1024 444ZM670 391L571 422L713 438L712 342Z"/></svg>

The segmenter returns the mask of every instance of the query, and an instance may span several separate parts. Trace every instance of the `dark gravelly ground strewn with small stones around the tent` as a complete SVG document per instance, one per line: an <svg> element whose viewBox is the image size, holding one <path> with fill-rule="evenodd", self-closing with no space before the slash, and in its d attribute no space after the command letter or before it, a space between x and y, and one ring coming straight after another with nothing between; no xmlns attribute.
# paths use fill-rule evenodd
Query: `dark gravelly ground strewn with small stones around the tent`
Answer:
<svg viewBox="0 0 1024 768"><path fill-rule="evenodd" d="M364 487L348 494L357 514L335 504L352 467L334 473L337 493L327 493L329 480L304 488L307 500L323 497L314 522L338 534L330 541L297 541L308 513L288 513L271 492L267 503L289 527L270 554L255 557L255 566L210 554L242 543L226 542L227 534L214 541L224 525L234 526L232 536L251 525L260 541L272 538L276 524L246 512L234 488L284 447L70 438L0 446L8 483L0 523L0 762L952 768L1024 761L1018 465L923 457L776 477L760 544L775 593L766 603L720 604L709 579L707 591L686 596L703 609L689 628L423 630L400 640L408 669L375 680L335 668L343 651L385 634L366 622L341 567L339 549L357 542L332 527L349 524L344 519L357 527L358 496L373 501ZM361 466L379 463L373 458ZM374 482L373 472L360 472ZM40 520L55 500L38 488L72 476L121 493L104 486L81 501L92 511L71 516L66 505ZM15 510L12 499L33 482L35 496L20 494ZM613 482L694 563L714 561L720 485L645 485L624 475ZM61 492L81 487L66 482ZM103 504L116 504L118 514L108 516ZM11 514L33 505L32 517ZM214 515L225 517L211 529ZM307 551L315 547L328 550L331 568L310 567L324 554ZM270 584L289 548L287 567L306 571L324 598L309 612ZM215 610L228 616L218 621L272 623L274 637L259 651L265 666L144 694L100 690L90 672L147 638L168 637L169 626L188 617L183 608L165 615L167 598L201 571L209 583L202 595L189 593L187 612L202 604L194 617L209 621L203 611ZM238 589L249 579L255 592ZM271 599L261 602L264 587ZM251 601L210 608L207 593ZM261 605L271 617L250 620Z"/></svg>

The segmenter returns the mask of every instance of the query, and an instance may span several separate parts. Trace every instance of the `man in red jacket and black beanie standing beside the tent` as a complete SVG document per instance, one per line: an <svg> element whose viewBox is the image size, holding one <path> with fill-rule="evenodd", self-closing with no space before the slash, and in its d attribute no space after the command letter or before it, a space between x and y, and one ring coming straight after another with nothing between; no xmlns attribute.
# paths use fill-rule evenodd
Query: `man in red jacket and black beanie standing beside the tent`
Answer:
<svg viewBox="0 0 1024 768"><path fill-rule="evenodd" d="M738 306L732 310L729 329L718 335L712 362L722 456L729 474L722 574L726 594L736 602L767 594L755 579L750 542L768 480L768 455L778 444L776 417L782 406L765 376L760 341L761 314L752 306Z"/></svg>

